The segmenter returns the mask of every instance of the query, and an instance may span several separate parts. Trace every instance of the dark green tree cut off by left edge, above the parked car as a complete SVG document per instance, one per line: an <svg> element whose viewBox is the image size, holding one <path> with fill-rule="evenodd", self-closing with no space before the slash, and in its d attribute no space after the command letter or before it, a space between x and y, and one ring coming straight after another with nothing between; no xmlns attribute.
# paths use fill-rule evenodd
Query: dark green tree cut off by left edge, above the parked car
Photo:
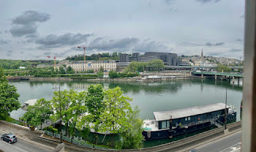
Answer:
<svg viewBox="0 0 256 152"><path fill-rule="evenodd" d="M20 108L19 96L15 86L0 82L0 113L2 116L10 115L12 110Z"/></svg>

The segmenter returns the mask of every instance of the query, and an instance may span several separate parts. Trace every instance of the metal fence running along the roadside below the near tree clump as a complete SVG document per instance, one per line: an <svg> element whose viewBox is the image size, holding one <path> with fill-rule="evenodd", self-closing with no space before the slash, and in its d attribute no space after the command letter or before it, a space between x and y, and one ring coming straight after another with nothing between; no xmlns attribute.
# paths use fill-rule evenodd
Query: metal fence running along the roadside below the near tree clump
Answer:
<svg viewBox="0 0 256 152"><path fill-rule="evenodd" d="M47 134L48 136L51 136L51 137L56 137L56 138L61 139L61 134L56 134L56 133L53 133L53 132L49 132L47 130L44 131L44 134ZM66 137L66 136L62 136L62 140L67 141L67 142L71 142L72 144L79 145L79 146L86 147L86 148L110 149L111 150L111 148L105 148L105 147L100 147L100 146L97 146L97 145L92 145L92 144L89 144L89 143L84 142L82 140L73 140L72 138L69 138L69 137Z"/></svg>

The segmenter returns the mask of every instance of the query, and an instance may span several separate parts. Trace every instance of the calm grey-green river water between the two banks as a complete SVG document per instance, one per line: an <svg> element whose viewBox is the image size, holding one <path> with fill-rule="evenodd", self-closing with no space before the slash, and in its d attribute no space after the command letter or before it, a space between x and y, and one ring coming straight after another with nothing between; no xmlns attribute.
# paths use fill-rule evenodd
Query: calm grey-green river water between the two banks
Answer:
<svg viewBox="0 0 256 152"><path fill-rule="evenodd" d="M18 89L20 104L23 105L29 99L52 99L55 87L61 86L61 90L75 89L77 91L87 90L94 82L72 81L72 82L10 82ZM100 82L105 89L121 87L124 95L133 99L132 106L140 108L140 118L153 119L154 111L175 110L185 107L225 103L225 89L227 88L227 104L232 104L237 110L237 121L240 120L240 103L242 99L241 84L230 83L228 80L193 79L169 82ZM19 109L12 111L11 117L18 119L25 111ZM151 144L150 144L151 145Z"/></svg>

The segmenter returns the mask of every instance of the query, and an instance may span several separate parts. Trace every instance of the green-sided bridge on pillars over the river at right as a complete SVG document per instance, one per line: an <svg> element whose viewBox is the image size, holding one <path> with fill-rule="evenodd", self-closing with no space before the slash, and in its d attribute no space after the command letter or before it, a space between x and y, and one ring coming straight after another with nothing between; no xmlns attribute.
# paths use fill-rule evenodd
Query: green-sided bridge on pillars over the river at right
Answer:
<svg viewBox="0 0 256 152"><path fill-rule="evenodd" d="M193 75L201 75L201 78L206 77L206 76L215 76L215 80L217 80L217 77L219 76L221 79L223 79L223 76L226 79L230 80L230 77L232 77L232 82L235 83L235 77L238 78L238 84L239 84L239 79L240 77L244 78L244 75L241 73L232 73L232 72L204 72L204 71L193 71Z"/></svg>

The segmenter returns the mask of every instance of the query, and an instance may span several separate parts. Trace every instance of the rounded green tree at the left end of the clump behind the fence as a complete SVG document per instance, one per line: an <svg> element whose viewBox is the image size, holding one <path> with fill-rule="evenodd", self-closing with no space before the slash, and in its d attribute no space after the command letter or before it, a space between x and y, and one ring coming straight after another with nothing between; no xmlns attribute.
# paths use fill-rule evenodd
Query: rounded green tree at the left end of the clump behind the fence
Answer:
<svg viewBox="0 0 256 152"><path fill-rule="evenodd" d="M53 107L50 104L50 101L45 99L39 99L37 102L28 107L28 112L26 112L22 118L23 121L26 121L31 126L38 126L44 123L46 120L50 119L50 115L53 114Z"/></svg>

